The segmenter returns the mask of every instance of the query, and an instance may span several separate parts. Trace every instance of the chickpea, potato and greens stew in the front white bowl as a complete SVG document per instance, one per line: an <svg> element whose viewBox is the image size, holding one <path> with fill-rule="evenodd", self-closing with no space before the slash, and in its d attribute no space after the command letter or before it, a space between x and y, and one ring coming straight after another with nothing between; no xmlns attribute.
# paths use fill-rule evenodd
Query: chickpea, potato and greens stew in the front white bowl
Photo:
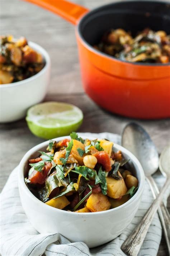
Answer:
<svg viewBox="0 0 170 256"><path fill-rule="evenodd" d="M99 212L122 205L137 191L138 179L124 165L121 151L105 139L49 141L48 152L29 159L25 182L49 206L74 212Z"/></svg>

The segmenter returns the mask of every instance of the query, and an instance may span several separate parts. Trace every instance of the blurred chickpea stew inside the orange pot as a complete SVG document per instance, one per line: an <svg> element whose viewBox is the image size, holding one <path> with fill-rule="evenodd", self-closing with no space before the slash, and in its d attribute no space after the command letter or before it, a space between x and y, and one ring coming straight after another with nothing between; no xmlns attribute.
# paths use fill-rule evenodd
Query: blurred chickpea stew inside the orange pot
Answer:
<svg viewBox="0 0 170 256"><path fill-rule="evenodd" d="M145 28L135 37L122 28L104 33L95 49L120 60L145 63L170 62L170 35Z"/></svg>

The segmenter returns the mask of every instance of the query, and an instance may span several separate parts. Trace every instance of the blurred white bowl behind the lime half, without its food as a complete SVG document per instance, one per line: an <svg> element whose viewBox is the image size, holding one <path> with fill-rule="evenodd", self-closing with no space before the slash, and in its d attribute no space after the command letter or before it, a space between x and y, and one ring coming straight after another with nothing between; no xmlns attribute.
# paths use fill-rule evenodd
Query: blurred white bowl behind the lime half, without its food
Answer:
<svg viewBox="0 0 170 256"><path fill-rule="evenodd" d="M45 66L36 75L11 84L0 85L0 122L13 122L23 118L27 109L41 102L49 83L51 61L46 50L34 42L30 47L41 53Z"/></svg>

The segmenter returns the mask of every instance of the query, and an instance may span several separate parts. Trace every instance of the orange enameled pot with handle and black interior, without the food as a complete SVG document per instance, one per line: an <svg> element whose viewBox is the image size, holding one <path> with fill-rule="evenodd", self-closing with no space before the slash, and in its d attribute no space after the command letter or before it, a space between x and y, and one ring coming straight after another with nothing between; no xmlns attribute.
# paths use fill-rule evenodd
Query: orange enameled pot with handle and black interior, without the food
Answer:
<svg viewBox="0 0 170 256"><path fill-rule="evenodd" d="M170 4L122 1L88 9L64 0L28 0L76 26L86 93L101 107L134 118L170 117L170 63L130 63L93 48L109 28L136 33L146 27L170 34Z"/></svg>

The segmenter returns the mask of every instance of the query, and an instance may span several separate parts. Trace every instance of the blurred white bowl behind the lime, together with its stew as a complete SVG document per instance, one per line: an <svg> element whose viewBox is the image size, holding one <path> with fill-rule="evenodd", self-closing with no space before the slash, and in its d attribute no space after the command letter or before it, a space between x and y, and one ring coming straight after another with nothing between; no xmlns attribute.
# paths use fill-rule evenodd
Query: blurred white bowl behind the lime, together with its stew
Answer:
<svg viewBox="0 0 170 256"><path fill-rule="evenodd" d="M3 40L12 39L7 37ZM16 43L19 46L14 46ZM1 123L23 118L29 107L44 99L49 84L51 61L47 51L34 42L28 41L27 44L24 38L17 40L16 43L13 40L10 43L3 42L3 55L0 55ZM11 51L7 48L8 44ZM17 56L21 55L19 61ZM33 62L30 63L28 60Z"/></svg>

